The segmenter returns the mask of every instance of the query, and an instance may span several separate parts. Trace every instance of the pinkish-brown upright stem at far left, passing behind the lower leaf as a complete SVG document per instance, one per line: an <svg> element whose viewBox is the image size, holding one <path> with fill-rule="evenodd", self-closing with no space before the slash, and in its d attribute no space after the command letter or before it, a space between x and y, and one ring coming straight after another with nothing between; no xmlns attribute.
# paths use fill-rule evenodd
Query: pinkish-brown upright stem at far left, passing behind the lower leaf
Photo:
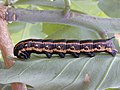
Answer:
<svg viewBox="0 0 120 90"><path fill-rule="evenodd" d="M4 59L5 68L10 68L14 64L13 59L8 58L9 56L13 57L13 44L5 20L6 11L7 7L0 5L0 50ZM14 83L11 86L12 90L27 90L25 84Z"/></svg>

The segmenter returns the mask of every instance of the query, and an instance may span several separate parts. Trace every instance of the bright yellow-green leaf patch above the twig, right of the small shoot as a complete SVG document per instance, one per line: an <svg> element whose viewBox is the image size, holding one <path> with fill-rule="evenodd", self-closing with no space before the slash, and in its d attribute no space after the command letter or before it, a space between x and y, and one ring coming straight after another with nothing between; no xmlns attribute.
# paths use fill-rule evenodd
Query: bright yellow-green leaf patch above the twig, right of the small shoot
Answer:
<svg viewBox="0 0 120 90"><path fill-rule="evenodd" d="M71 8L73 10L82 11L89 15L99 16L99 17L108 17L100 10L98 7L98 1L93 0L71 0Z"/></svg>

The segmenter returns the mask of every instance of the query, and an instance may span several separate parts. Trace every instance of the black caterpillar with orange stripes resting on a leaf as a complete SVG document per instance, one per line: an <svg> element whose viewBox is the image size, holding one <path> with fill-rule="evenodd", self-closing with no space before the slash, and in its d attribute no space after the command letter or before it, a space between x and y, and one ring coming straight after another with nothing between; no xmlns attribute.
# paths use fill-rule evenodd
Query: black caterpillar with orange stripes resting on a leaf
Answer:
<svg viewBox="0 0 120 90"><path fill-rule="evenodd" d="M58 54L61 58L64 58L65 54L71 54L78 58L81 53L94 57L96 52L107 52L115 56L117 50L113 47L112 38L114 37L98 40L27 39L15 45L14 55L28 59L31 53L46 54L48 58L53 54Z"/></svg>

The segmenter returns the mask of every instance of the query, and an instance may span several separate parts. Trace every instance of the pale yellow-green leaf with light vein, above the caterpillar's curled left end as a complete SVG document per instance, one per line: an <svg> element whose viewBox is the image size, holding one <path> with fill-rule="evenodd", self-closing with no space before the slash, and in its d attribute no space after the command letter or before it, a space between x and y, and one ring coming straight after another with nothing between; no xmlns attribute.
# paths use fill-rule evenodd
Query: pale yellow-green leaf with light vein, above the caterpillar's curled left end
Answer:
<svg viewBox="0 0 120 90"><path fill-rule="evenodd" d="M46 34L42 32L42 24L30 24L30 23L11 23L9 24L9 31L13 43L17 43L21 40L28 38L45 38Z"/></svg>

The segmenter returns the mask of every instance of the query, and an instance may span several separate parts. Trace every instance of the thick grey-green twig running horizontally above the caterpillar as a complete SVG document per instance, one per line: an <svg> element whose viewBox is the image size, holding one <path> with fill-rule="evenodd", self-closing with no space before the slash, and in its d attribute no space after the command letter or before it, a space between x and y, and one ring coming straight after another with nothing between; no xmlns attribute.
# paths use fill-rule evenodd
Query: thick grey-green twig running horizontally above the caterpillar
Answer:
<svg viewBox="0 0 120 90"><path fill-rule="evenodd" d="M102 38L106 38L107 33L120 32L120 27L118 26L120 19L98 18L74 11L70 11L69 18L64 18L63 10L27 10L11 8L8 9L6 19L7 21L14 22L50 22L67 24L79 28L89 28L93 32L99 33ZM110 28L106 27L108 25Z"/></svg>

